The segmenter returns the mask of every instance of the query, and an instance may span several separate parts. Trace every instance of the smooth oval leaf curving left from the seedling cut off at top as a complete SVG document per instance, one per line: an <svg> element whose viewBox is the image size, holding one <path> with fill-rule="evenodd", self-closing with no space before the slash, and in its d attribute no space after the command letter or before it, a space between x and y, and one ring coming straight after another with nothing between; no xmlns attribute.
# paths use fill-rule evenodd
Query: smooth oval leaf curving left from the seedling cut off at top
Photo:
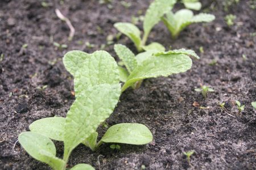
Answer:
<svg viewBox="0 0 256 170"><path fill-rule="evenodd" d="M114 27L117 28L117 30L127 37L131 39L131 41L134 42L137 49L141 46L141 31L139 31L139 28L136 27L134 24L131 23L115 23Z"/></svg>

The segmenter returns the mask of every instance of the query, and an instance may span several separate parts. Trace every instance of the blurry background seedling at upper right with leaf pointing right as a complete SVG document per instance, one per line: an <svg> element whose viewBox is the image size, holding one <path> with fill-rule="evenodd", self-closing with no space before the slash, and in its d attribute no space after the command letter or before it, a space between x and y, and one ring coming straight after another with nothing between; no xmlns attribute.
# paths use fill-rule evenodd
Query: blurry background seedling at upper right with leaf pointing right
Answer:
<svg viewBox="0 0 256 170"><path fill-rule="evenodd" d="M171 32L172 39L176 39L180 32L183 31L188 25L193 23L201 22L212 22L215 19L215 16L212 14L200 13L194 15L191 10L182 9L177 11L175 14L171 11L162 17L163 23Z"/></svg>

